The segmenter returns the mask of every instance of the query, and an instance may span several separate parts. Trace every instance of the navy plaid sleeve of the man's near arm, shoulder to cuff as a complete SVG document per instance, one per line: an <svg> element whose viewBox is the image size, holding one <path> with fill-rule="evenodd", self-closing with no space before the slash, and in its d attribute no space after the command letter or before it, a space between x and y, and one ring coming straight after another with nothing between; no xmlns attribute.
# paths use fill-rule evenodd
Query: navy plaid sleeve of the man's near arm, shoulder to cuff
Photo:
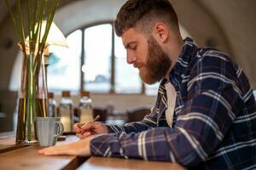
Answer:
<svg viewBox="0 0 256 170"><path fill-rule="evenodd" d="M183 166L206 161L241 111L246 94L236 79L227 59L202 57L190 72L188 99L176 113L175 127L96 136L90 143L92 155L172 161Z"/></svg>

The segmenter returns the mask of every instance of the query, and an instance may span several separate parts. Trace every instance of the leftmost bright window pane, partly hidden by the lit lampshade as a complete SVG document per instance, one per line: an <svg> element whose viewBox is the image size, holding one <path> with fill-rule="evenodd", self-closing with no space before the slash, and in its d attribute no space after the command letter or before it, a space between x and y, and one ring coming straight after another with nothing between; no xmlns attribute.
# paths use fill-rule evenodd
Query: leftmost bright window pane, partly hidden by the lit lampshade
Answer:
<svg viewBox="0 0 256 170"><path fill-rule="evenodd" d="M67 36L68 49L49 55L47 68L49 91L80 89L81 35L81 30L73 31Z"/></svg>

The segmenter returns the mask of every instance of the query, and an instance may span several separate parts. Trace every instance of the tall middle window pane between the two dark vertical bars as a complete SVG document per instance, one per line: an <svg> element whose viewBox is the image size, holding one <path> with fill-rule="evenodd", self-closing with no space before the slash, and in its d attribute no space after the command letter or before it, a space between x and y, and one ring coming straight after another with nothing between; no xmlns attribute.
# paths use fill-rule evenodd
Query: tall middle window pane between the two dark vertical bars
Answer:
<svg viewBox="0 0 256 170"><path fill-rule="evenodd" d="M91 26L84 30L84 89L108 93L111 87L112 25Z"/></svg>

